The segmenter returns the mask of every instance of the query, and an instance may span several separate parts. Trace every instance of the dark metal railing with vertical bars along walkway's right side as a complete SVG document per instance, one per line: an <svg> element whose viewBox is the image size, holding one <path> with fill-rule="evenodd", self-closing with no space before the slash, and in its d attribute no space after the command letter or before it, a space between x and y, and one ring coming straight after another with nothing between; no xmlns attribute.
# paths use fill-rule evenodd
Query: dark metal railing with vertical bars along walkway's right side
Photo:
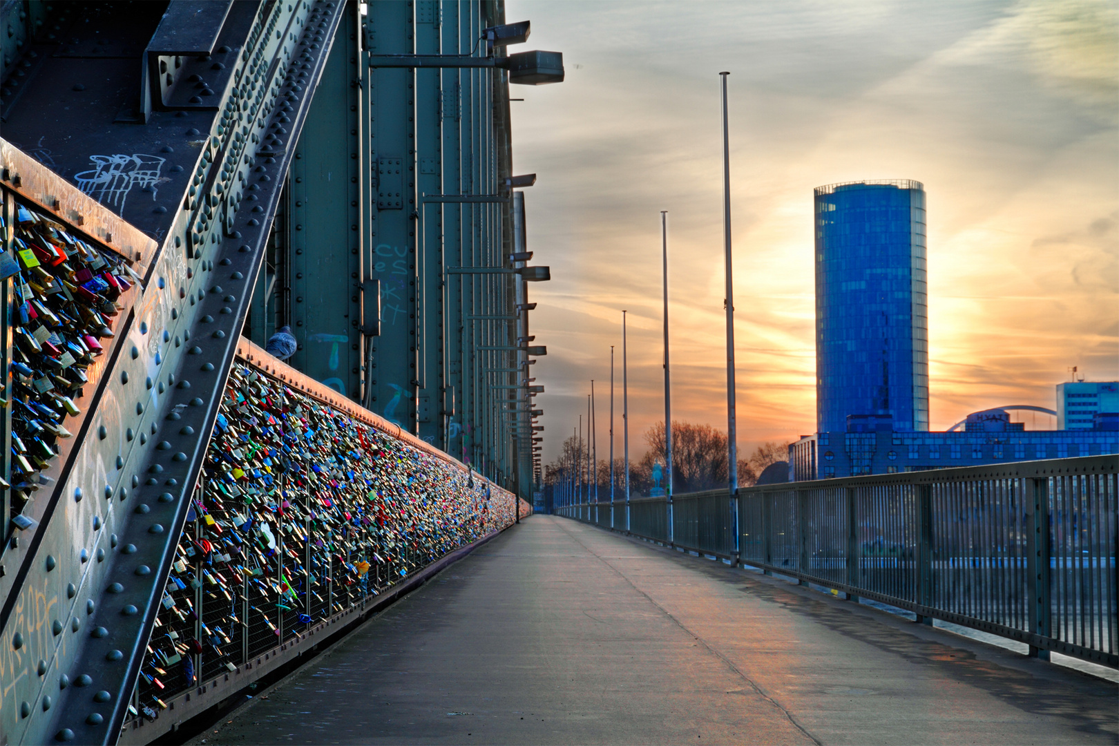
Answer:
<svg viewBox="0 0 1119 746"><path fill-rule="evenodd" d="M665 498L556 512L1119 668L1117 502L1104 455L679 494L671 537Z"/></svg>

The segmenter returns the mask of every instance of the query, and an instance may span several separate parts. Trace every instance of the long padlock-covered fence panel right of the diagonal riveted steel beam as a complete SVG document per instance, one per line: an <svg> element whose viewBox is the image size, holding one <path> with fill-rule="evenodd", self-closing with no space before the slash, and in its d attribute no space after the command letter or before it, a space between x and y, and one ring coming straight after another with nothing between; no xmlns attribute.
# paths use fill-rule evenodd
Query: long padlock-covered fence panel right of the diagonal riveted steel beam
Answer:
<svg viewBox="0 0 1119 746"><path fill-rule="evenodd" d="M235 367L134 715L154 717L171 696L508 526L516 509L459 464Z"/></svg>

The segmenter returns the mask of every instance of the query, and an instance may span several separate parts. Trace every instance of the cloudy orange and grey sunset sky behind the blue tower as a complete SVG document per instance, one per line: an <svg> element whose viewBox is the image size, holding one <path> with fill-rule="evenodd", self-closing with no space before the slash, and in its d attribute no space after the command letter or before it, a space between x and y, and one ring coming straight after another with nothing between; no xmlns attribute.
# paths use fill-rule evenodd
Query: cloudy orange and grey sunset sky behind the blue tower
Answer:
<svg viewBox="0 0 1119 746"><path fill-rule="evenodd" d="M629 314L631 456L664 418L659 210L669 210L673 414L726 426L718 72L730 70L739 444L816 422L812 189L928 192L931 428L1054 406L1078 366L1119 377L1119 12L1113 2L532 2L514 86L545 462ZM516 50L517 48L514 48Z"/></svg>

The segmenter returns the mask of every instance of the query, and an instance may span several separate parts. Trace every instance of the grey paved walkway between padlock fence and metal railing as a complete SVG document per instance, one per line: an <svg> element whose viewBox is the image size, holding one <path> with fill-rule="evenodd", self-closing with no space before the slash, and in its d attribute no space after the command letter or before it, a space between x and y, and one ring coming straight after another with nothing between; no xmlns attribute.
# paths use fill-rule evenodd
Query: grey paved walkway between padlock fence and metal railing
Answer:
<svg viewBox="0 0 1119 746"><path fill-rule="evenodd" d="M534 516L214 744L1115 744L1117 687Z"/></svg>

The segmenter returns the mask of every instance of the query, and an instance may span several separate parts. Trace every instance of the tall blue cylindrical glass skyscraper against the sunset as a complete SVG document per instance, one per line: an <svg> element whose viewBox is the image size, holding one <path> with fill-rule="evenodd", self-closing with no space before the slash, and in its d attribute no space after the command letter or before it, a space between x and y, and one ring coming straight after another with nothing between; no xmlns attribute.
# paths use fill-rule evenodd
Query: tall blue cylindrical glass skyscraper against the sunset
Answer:
<svg viewBox="0 0 1119 746"><path fill-rule="evenodd" d="M924 187L919 181L816 189L817 432L850 415L929 429Z"/></svg>

